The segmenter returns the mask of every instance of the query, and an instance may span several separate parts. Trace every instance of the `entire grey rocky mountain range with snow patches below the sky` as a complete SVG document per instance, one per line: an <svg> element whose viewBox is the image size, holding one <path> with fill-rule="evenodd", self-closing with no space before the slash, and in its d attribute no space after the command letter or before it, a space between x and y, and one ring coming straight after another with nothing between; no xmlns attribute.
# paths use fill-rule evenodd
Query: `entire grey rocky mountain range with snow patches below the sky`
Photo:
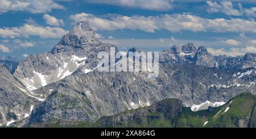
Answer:
<svg viewBox="0 0 256 139"><path fill-rule="evenodd" d="M144 72L98 71L97 54L110 52L110 47L115 45L97 40L88 22L79 22L48 53L32 54L16 65L2 60L0 125L47 127L58 121L72 126L97 121L100 124L92 126L137 127L136 119L129 117L135 116L144 127L202 127L205 120L209 120L208 127L233 127L233 121L230 126L214 123L212 115L229 107L230 100L240 94L256 94L255 53L212 56L203 46L175 45L159 52L159 76L148 78ZM255 101L253 95L245 97ZM209 112L208 106L217 108ZM235 105L230 110L234 107L238 109ZM166 113L166 109L171 111ZM180 117L200 113L205 117L196 121ZM104 123L104 116L112 117ZM159 123L145 123L148 119L141 116L155 116ZM234 126L253 123L247 119L243 126L242 122L239 119Z"/></svg>

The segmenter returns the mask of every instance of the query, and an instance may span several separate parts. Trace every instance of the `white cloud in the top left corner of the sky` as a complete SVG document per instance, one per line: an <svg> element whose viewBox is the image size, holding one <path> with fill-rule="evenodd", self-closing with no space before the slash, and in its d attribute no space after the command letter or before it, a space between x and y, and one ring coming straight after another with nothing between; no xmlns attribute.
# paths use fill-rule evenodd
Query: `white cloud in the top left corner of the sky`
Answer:
<svg viewBox="0 0 256 139"><path fill-rule="evenodd" d="M27 11L33 14L46 13L52 9L65 9L53 0L1 0L0 12Z"/></svg>

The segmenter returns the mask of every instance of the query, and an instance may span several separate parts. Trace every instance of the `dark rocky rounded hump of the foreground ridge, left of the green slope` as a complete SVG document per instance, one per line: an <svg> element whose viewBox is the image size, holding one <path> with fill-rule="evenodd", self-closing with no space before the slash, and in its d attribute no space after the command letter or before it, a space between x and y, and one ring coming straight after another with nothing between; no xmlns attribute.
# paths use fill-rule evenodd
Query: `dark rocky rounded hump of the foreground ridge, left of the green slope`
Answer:
<svg viewBox="0 0 256 139"><path fill-rule="evenodd" d="M175 119L182 112L182 108L181 100L166 99L152 104L150 107L126 111L115 116L102 117L97 123L100 123L101 127L118 127L118 125L121 127L129 127L131 123L134 123L134 126L135 123L143 126L145 122L150 123L150 120L147 119L161 119L159 113L166 119ZM162 120L164 120L163 117ZM175 125L172 121L170 121L170 124ZM148 125L144 126L148 127ZM152 127L154 127L154 125L152 125Z"/></svg>

